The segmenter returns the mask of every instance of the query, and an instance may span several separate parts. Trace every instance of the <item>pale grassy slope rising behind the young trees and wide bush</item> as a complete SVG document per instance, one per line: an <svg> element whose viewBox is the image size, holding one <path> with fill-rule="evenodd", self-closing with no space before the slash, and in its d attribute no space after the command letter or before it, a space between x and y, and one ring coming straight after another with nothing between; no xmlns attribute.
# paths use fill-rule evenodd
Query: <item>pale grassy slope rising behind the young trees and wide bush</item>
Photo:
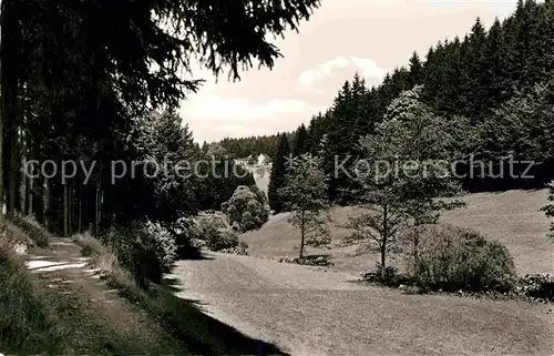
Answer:
<svg viewBox="0 0 554 356"><path fill-rule="evenodd" d="M548 220L540 212L546 204L546 190L479 193L465 197L468 206L443 214L441 221L474 228L506 245L519 274L553 273L554 243L546 238ZM341 225L353 207L339 207L334 213L331 250L308 248L314 254L330 254L337 269L360 273L372 268L378 261L375 252L360 251L360 245L340 247L337 243L348 235ZM255 256L296 256L299 237L287 223L287 214L271 216L260 230L244 234L242 240ZM392 255L392 262L402 267L402 258Z"/></svg>

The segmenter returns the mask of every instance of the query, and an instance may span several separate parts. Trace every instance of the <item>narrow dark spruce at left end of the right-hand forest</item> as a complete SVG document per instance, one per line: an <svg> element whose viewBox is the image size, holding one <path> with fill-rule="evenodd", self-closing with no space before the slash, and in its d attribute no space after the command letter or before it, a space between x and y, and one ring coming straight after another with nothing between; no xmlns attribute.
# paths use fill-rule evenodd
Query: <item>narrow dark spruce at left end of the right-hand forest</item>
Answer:
<svg viewBox="0 0 554 356"><path fill-rule="evenodd" d="M267 197L269 206L276 212L283 212L285 205L279 195L279 190L285 186L285 175L287 171L287 160L290 156L290 146L287 134L283 133L277 143L277 150L273 157L271 174L269 175L269 186Z"/></svg>

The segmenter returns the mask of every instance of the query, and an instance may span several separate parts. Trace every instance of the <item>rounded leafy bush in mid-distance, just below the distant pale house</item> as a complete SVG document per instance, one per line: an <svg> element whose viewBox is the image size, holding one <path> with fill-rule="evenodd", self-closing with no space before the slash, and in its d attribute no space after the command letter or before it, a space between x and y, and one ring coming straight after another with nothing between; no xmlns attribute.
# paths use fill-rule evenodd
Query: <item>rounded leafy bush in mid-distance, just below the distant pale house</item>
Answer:
<svg viewBox="0 0 554 356"><path fill-rule="evenodd" d="M264 195L258 190L255 191L256 193L240 185L233 196L222 204L222 211L230 224L237 223L242 232L258 228L268 218Z"/></svg>

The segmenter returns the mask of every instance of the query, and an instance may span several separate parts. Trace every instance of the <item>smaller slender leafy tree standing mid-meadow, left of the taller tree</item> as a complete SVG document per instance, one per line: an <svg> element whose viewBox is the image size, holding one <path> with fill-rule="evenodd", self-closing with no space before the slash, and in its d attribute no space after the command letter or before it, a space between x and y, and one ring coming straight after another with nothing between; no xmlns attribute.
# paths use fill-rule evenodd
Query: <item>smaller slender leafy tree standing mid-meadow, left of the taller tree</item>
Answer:
<svg viewBox="0 0 554 356"><path fill-rule="evenodd" d="M295 157L287 169L286 185L279 190L291 211L290 223L300 231L300 260L305 245L319 247L331 242L326 179L320 164L320 159L308 153Z"/></svg>

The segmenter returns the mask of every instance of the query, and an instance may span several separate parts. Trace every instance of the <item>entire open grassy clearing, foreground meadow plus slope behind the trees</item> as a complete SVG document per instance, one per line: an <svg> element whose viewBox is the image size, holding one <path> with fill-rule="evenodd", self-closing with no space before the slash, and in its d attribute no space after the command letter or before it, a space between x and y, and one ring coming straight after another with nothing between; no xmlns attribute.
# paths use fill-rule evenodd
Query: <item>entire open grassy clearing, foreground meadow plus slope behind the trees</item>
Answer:
<svg viewBox="0 0 554 356"><path fill-rule="evenodd" d="M506 244L522 273L551 272L554 243L540 212L546 191L472 194L442 222L475 228ZM208 253L182 261L173 277L178 296L198 301L220 322L291 355L552 355L552 305L455 295L409 295L357 282L378 254L341 247L342 227L358 208L332 213L334 267L277 263L296 256L298 233L288 214L244 234L250 256ZM391 262L402 268L401 254Z"/></svg>

